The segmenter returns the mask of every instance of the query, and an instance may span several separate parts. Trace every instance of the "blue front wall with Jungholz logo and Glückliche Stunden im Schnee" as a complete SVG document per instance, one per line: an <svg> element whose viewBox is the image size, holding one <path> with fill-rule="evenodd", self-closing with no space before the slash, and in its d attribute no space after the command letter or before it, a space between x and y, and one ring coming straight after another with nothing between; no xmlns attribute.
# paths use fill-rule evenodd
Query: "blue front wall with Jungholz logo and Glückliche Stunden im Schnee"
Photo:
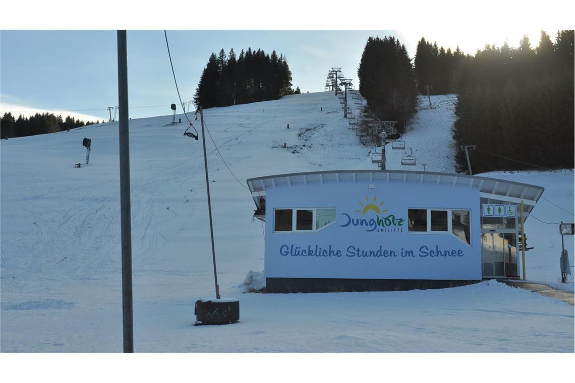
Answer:
<svg viewBox="0 0 575 383"><path fill-rule="evenodd" d="M479 198L477 189L468 187L420 188L392 181L270 188L266 191L266 278L480 280ZM332 207L336 222L313 233L274 232L274 209L289 207ZM408 210L425 216L421 212L425 207L469 210L470 231L465 233L462 222L455 225L451 220L442 233L432 233L431 226L427 233L410 230L414 223Z"/></svg>

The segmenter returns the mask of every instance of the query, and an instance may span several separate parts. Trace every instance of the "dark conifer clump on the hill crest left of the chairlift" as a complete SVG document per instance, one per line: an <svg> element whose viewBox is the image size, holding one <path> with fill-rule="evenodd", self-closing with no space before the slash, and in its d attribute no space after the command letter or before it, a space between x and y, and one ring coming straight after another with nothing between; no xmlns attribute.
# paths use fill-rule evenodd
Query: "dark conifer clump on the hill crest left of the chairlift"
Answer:
<svg viewBox="0 0 575 383"><path fill-rule="evenodd" d="M209 57L208 64L194 95L196 106L205 108L230 106L250 102L276 100L286 94L299 93L292 89L292 72L283 55L271 55L262 49L236 53L224 49Z"/></svg>

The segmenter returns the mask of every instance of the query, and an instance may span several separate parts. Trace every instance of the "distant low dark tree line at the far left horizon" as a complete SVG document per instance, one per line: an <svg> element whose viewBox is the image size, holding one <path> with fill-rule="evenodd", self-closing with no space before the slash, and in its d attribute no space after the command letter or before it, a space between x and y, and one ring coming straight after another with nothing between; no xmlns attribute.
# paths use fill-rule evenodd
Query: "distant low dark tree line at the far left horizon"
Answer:
<svg viewBox="0 0 575 383"><path fill-rule="evenodd" d="M30 117L19 115L18 118L8 112L0 117L0 127L2 129L0 136L2 138L34 136L34 134L54 133L74 129L75 127L92 125L99 121L80 121L74 117L62 118L61 115L53 113L36 113Z"/></svg>

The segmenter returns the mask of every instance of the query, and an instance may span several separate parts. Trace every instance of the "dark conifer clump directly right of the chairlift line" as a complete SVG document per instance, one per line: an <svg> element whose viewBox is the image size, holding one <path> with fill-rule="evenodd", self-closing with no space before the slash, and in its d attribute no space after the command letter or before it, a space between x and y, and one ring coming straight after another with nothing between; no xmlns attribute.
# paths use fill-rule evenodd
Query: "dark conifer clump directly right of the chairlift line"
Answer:
<svg viewBox="0 0 575 383"><path fill-rule="evenodd" d="M398 121L400 133L415 113L417 89L411 59L395 37L369 37L358 69L359 92L382 121Z"/></svg>

